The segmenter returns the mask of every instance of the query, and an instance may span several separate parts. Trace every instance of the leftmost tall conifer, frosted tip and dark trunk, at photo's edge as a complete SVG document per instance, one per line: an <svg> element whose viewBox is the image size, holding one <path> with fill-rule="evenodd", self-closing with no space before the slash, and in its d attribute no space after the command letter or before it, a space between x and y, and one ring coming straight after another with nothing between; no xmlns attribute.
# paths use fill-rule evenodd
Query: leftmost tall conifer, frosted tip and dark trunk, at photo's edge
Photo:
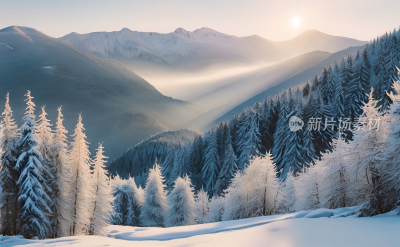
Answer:
<svg viewBox="0 0 400 247"><path fill-rule="evenodd" d="M17 125L12 118L12 110L9 106L9 94L5 97L4 111L2 113L2 122L0 124L0 183L1 183L1 198L0 198L0 225L1 234L16 235L17 221L19 217L18 211L18 172L14 169L16 163L16 141L19 137Z"/></svg>

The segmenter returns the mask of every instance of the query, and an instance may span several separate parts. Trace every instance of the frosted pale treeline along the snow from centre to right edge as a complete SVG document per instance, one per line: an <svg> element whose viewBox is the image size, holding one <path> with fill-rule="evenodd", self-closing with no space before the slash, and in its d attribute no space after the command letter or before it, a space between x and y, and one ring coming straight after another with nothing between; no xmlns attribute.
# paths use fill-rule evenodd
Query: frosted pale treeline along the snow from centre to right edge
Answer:
<svg viewBox="0 0 400 247"><path fill-rule="evenodd" d="M278 179L270 152L236 170L229 186L211 199L203 189L194 194L187 175L178 176L167 190L161 174L166 171L157 163L149 170L144 189L133 178L115 177L112 223L178 226L316 208L359 205L356 216L398 209L400 81L394 84L394 94L387 95L392 103L382 113L371 91L356 127L350 130L352 140L345 140L339 129L330 151L294 175L288 170L285 180Z"/></svg>

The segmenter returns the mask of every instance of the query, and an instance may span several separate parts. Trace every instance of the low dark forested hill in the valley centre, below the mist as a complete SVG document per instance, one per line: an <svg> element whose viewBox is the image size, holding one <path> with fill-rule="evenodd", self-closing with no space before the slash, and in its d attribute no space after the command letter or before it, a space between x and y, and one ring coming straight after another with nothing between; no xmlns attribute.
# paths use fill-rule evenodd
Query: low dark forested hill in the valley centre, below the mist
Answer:
<svg viewBox="0 0 400 247"><path fill-rule="evenodd" d="M188 129L178 129L162 131L152 135L135 146L130 147L117 158L111 160L108 164L108 170L113 175L120 175L127 178L129 175L135 177L136 183L144 185L147 178L147 172L155 162L162 164L167 149L179 148L194 140L198 134Z"/></svg>

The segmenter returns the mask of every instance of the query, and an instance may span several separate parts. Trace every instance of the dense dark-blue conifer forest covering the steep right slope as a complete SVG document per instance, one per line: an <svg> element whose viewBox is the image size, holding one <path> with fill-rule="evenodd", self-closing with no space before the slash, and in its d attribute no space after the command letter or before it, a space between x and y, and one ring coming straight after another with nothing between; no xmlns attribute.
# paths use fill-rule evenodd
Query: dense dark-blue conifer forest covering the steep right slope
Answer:
<svg viewBox="0 0 400 247"><path fill-rule="evenodd" d="M392 99L386 91L396 79L398 61L400 31L393 30L340 62L327 65L310 81L268 95L263 102L211 127L192 143L167 150L158 159L166 185L170 187L176 177L187 173L195 190L203 186L210 195L217 195L229 185L236 169L243 170L254 156L268 151L281 179L288 171L296 174L332 150L330 143L338 137L339 127L347 124L341 135L346 141L353 139L351 129L362 113L371 86L376 88L373 96L380 110L387 109ZM303 119L305 127L290 131L292 116ZM320 127L309 130L307 126L316 118L320 118Z"/></svg>

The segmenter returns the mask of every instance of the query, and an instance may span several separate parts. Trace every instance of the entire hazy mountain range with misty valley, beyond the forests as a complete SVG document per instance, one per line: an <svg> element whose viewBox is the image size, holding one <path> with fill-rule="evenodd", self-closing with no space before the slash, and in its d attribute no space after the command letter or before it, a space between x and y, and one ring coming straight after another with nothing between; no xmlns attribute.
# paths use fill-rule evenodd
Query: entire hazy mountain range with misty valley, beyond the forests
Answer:
<svg viewBox="0 0 400 247"><path fill-rule="evenodd" d="M10 92L17 119L27 89L37 105L47 105L51 119L62 104L69 130L82 112L89 141L103 141L107 155L115 157L162 130L202 130L268 88L312 70L330 52L364 43L317 30L277 42L205 27L165 34L123 28L54 38L10 26L0 30L0 93ZM193 82L200 73L205 76ZM169 83L178 77L180 83ZM159 87L187 101L165 96Z"/></svg>

